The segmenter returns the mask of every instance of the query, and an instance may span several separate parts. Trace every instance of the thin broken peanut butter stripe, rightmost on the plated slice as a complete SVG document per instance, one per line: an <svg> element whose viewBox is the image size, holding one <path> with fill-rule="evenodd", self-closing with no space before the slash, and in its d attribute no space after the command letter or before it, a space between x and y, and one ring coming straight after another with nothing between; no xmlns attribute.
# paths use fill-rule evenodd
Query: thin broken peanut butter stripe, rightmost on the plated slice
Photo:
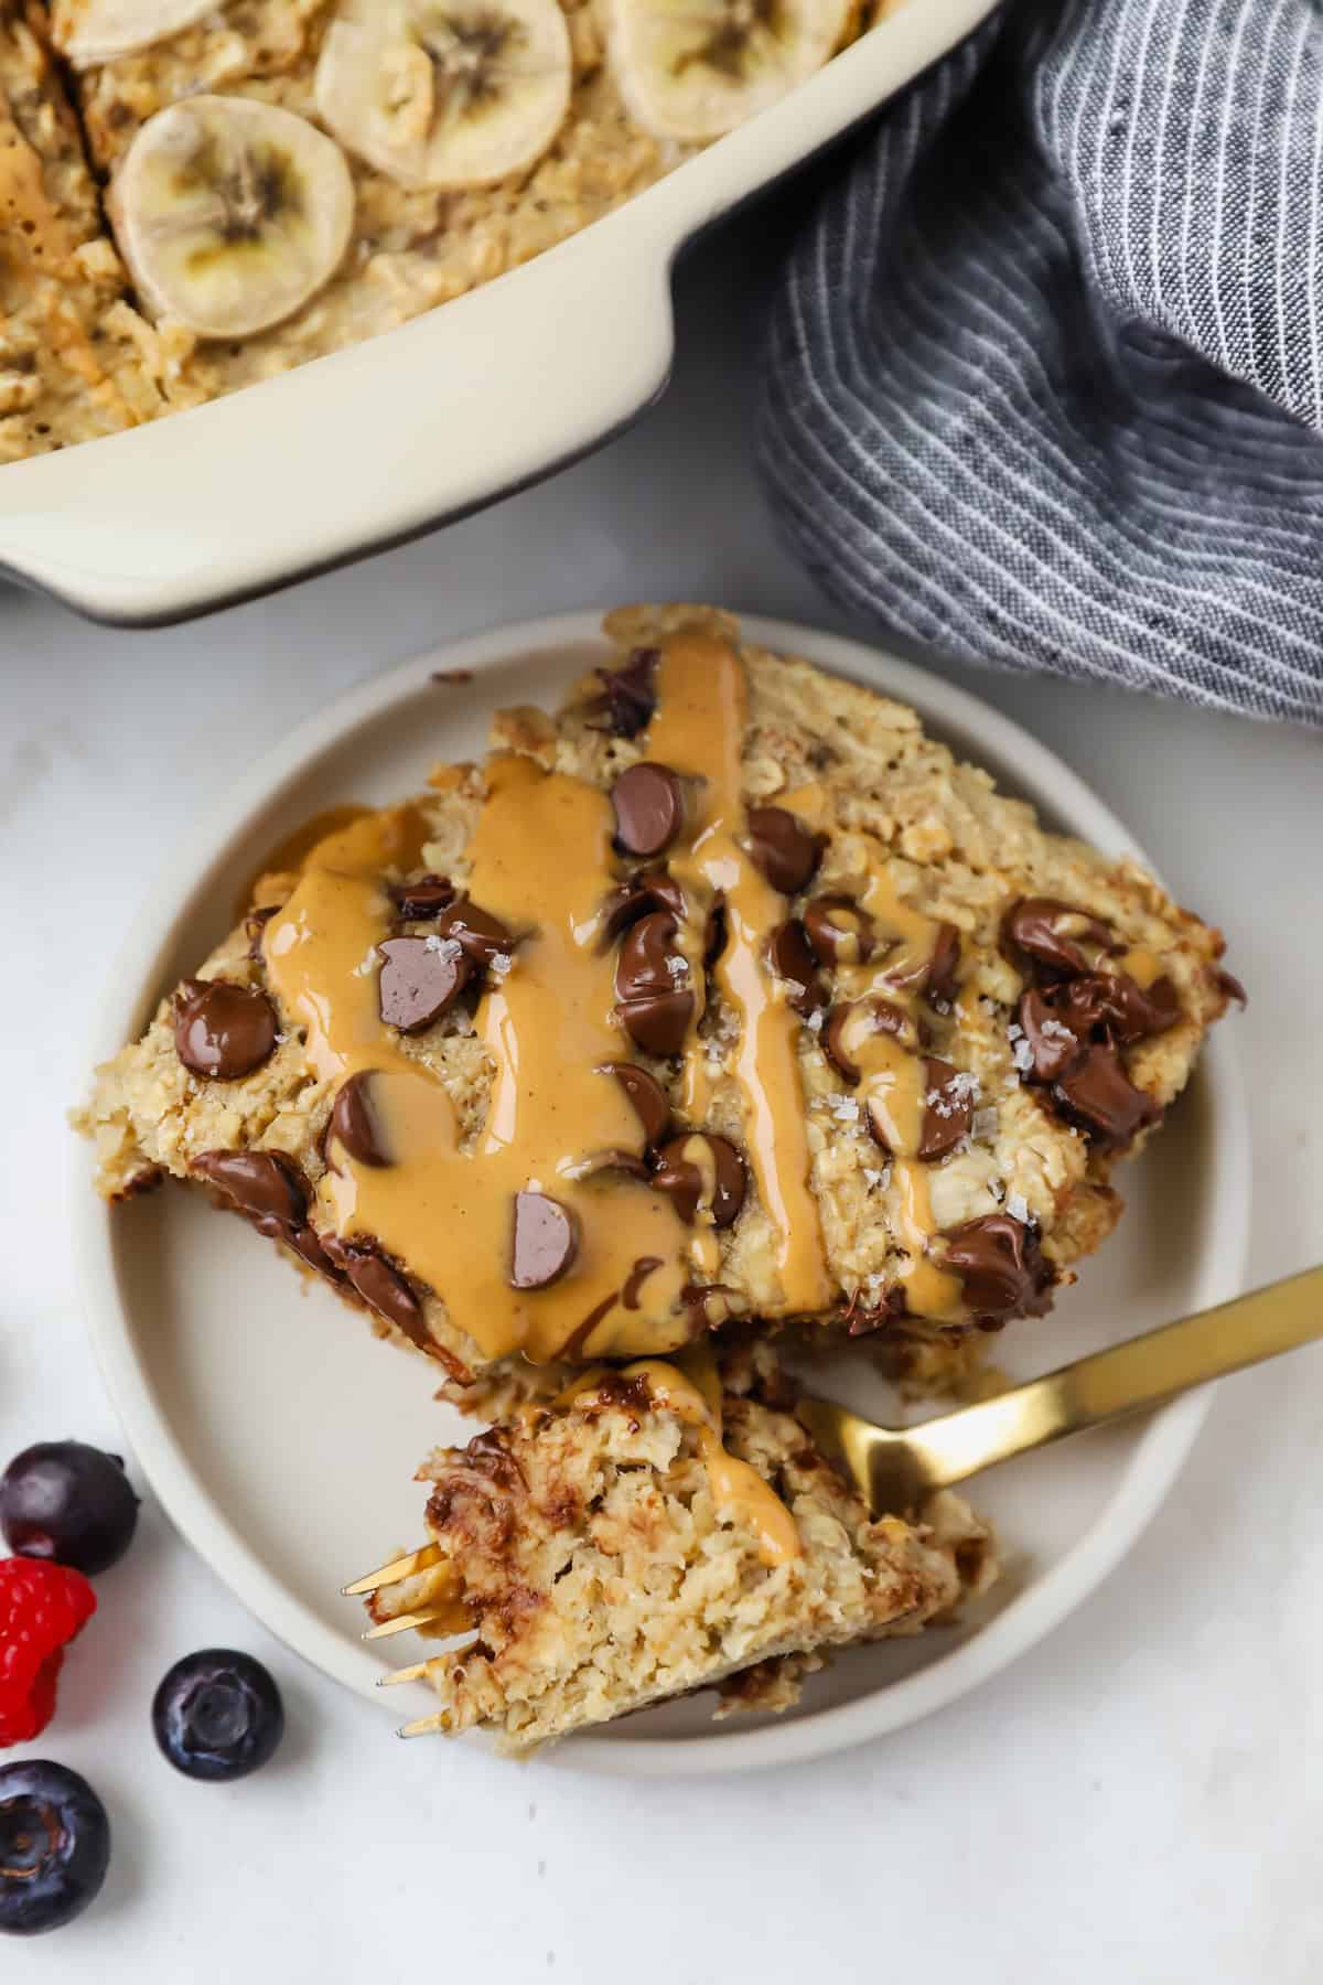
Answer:
<svg viewBox="0 0 1323 1985"><path fill-rule="evenodd" d="M932 959L938 925L914 909L899 893L881 848L869 863L869 877L859 903L873 917L879 951L867 965L839 969L841 994L851 1000L883 996L901 1006L914 1022L918 991L897 985ZM887 943L893 939L893 943ZM964 1284L928 1258L936 1233L928 1167L918 1159L924 1125L924 1060L893 1034L871 1032L861 1014L845 1026L843 1046L857 1064L861 1080L855 1096L863 1110L877 1116L879 1129L893 1155L897 1185L897 1227L908 1260L901 1270L908 1308L914 1316L942 1320L958 1316L964 1304Z"/></svg>

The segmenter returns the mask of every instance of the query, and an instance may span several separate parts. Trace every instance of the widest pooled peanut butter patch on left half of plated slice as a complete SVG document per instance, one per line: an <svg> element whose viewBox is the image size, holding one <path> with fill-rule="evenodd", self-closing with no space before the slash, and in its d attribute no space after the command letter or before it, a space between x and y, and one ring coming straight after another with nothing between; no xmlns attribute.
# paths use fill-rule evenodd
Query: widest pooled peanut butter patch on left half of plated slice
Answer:
<svg viewBox="0 0 1323 1985"><path fill-rule="evenodd" d="M478 1006L494 1074L472 1151L460 1147L444 1084L405 1054L377 1008L375 947L393 905L373 877L385 861L417 860L422 826L397 810L331 836L266 931L268 973L307 1028L309 1064L323 1080L375 1074L373 1112L393 1159L363 1165L333 1145L321 1215L428 1282L488 1358L545 1362L571 1340L579 1356L670 1350L690 1330L680 1302L688 1235L674 1207L621 1173L575 1177L597 1153L643 1149L625 1092L599 1072L623 1058L615 959L597 941L599 905L617 879L611 806L528 758L500 756L488 770L470 889L520 943ZM514 1197L526 1189L553 1195L579 1227L577 1255L549 1288L508 1280ZM643 1257L661 1266L635 1278L637 1308L625 1308Z"/></svg>

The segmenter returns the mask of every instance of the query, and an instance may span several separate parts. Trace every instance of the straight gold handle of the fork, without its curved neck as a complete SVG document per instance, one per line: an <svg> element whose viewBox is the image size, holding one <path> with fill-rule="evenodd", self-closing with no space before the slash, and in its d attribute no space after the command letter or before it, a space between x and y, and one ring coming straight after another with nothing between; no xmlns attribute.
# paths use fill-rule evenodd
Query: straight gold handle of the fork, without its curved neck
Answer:
<svg viewBox="0 0 1323 1985"><path fill-rule="evenodd" d="M906 1441L918 1449L926 1485L942 1489L994 1461L1010 1461L1029 1447L1160 1405L1311 1338L1323 1338L1323 1266L1093 1352L996 1399L910 1427Z"/></svg>

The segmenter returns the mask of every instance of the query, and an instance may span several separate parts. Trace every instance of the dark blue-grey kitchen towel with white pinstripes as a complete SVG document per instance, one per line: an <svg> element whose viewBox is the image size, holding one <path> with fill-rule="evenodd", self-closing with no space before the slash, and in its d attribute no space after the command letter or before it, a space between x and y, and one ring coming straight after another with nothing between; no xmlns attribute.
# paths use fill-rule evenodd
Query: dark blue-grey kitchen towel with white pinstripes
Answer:
<svg viewBox="0 0 1323 1985"><path fill-rule="evenodd" d="M881 627L1323 725L1317 0L994 16L797 244L760 459Z"/></svg>

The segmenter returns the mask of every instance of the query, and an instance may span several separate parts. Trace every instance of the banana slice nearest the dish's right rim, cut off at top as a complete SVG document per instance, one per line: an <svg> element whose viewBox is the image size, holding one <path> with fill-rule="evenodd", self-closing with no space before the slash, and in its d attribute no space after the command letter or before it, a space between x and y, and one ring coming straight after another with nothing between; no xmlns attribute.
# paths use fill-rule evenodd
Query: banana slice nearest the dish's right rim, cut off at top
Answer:
<svg viewBox="0 0 1323 1985"><path fill-rule="evenodd" d="M625 109L653 137L702 145L835 56L855 0L609 0Z"/></svg>

